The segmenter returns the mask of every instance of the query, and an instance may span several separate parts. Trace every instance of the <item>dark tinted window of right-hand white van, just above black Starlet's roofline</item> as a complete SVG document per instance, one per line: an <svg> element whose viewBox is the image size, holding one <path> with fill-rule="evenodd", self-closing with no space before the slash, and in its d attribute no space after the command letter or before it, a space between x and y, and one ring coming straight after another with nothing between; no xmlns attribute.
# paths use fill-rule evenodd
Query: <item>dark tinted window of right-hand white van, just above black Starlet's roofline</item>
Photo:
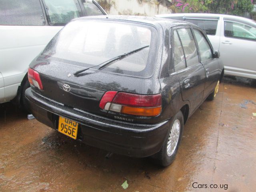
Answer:
<svg viewBox="0 0 256 192"><path fill-rule="evenodd" d="M187 22L194 23L200 27L207 35L216 35L218 21L216 20L198 20L198 19L185 19Z"/></svg>

